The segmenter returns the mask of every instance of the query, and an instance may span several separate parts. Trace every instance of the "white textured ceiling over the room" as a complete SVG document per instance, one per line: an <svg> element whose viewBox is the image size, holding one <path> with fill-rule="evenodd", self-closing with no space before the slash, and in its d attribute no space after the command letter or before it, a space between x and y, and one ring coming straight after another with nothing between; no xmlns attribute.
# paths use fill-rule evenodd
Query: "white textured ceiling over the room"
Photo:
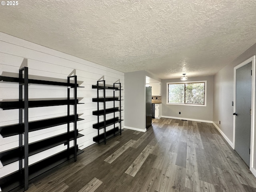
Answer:
<svg viewBox="0 0 256 192"><path fill-rule="evenodd" d="M256 42L256 0L19 0L0 31L159 78L213 75Z"/></svg>

